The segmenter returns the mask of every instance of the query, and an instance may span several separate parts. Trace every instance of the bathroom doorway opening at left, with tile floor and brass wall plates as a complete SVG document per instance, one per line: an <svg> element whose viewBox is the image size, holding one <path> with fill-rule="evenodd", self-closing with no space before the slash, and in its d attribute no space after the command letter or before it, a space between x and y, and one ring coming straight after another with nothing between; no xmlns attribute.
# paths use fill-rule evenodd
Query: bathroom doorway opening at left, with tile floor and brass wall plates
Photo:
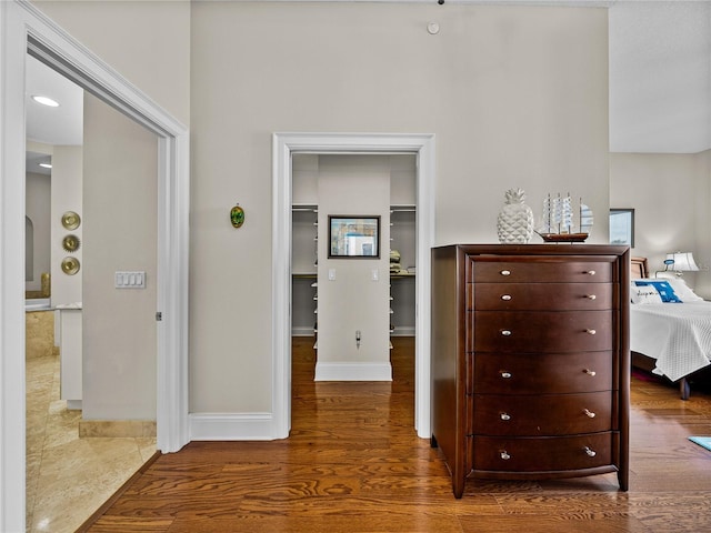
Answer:
<svg viewBox="0 0 711 533"><path fill-rule="evenodd" d="M158 138L39 60L27 64L27 143L51 154L41 178L54 185L46 224L34 224L49 249L49 302L27 314L27 531L74 531L156 451L154 422L142 421L156 420ZM116 271L144 283L120 290ZM49 353L38 350L47 338Z"/></svg>

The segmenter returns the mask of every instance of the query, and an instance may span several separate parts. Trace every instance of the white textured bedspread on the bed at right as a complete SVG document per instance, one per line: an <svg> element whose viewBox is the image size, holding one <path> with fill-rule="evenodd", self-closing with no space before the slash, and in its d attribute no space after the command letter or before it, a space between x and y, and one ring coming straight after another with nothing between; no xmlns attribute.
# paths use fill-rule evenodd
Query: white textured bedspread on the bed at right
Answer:
<svg viewBox="0 0 711 533"><path fill-rule="evenodd" d="M672 381L711 364L711 302L630 305L630 350Z"/></svg>

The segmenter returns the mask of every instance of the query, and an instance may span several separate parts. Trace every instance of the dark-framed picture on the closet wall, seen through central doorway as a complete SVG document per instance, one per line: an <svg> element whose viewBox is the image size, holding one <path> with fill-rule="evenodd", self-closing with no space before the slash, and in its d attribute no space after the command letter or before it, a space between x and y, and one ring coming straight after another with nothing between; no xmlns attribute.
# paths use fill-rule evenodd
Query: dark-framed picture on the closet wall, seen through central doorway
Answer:
<svg viewBox="0 0 711 533"><path fill-rule="evenodd" d="M329 259L379 259L380 217L329 214Z"/></svg>

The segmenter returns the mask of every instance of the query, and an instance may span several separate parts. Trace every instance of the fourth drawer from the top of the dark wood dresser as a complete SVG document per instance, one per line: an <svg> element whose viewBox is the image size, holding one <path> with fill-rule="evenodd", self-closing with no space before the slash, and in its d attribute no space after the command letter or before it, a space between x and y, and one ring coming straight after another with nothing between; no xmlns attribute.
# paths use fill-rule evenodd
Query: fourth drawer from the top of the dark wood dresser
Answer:
<svg viewBox="0 0 711 533"><path fill-rule="evenodd" d="M612 352L467 354L467 393L540 394L609 391Z"/></svg>

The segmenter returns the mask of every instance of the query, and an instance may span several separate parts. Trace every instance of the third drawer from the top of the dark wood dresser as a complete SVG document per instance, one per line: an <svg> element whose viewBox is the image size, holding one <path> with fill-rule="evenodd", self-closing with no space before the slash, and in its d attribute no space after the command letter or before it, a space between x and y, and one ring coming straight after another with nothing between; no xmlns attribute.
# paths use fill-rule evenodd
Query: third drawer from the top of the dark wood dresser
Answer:
<svg viewBox="0 0 711 533"><path fill-rule="evenodd" d="M612 350L612 311L474 311L468 351L592 352Z"/></svg>

